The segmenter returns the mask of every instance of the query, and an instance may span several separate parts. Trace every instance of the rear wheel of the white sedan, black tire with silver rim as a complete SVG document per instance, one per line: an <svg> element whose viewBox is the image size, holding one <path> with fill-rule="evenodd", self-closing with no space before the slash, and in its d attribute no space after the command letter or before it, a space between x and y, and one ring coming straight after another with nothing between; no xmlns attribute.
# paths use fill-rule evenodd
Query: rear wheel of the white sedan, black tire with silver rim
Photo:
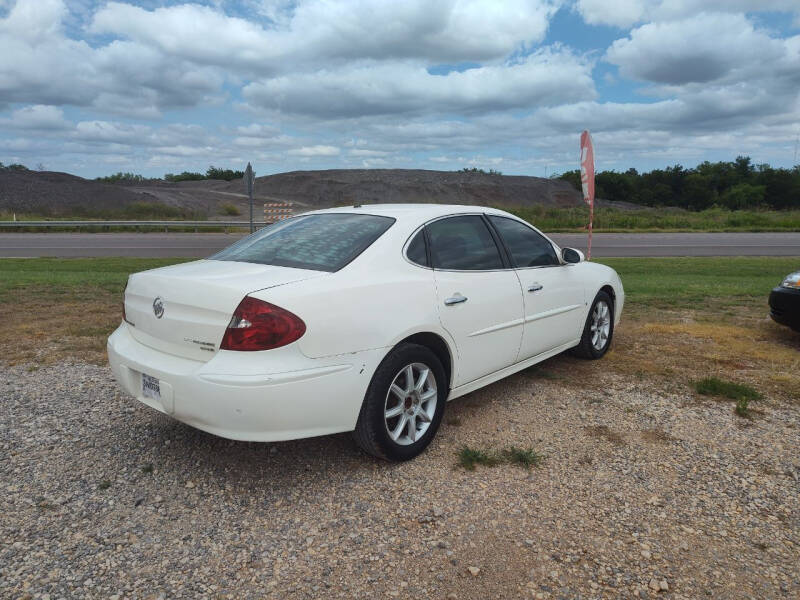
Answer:
<svg viewBox="0 0 800 600"><path fill-rule="evenodd" d="M375 370L353 437L368 454L410 460L436 435L447 395L447 378L436 355L425 346L400 344Z"/></svg>

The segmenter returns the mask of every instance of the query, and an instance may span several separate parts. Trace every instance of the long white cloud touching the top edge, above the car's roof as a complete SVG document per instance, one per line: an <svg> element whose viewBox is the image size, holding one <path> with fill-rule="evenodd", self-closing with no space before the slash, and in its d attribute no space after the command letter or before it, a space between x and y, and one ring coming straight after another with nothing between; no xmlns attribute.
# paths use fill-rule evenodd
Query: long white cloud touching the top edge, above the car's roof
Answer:
<svg viewBox="0 0 800 600"><path fill-rule="evenodd" d="M357 0L284 3L262 26L184 4L145 10L111 2L91 31L134 40L194 63L272 74L304 64L415 58L429 63L498 60L547 33L557 0Z"/></svg>

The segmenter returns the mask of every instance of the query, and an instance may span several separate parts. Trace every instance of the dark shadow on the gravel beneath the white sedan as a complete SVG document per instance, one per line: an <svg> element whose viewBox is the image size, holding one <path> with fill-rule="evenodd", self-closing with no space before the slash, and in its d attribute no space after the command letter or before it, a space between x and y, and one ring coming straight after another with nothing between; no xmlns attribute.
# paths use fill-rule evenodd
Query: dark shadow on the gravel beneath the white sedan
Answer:
<svg viewBox="0 0 800 600"><path fill-rule="evenodd" d="M214 482L262 494L286 488L317 493L332 479L357 482L364 477L391 473L396 469L419 468L428 461L451 456L461 444L461 433L470 420L492 411L535 397L536 382L550 382L570 366L570 357L554 357L485 388L448 403L441 429L431 447L412 463L390 463L362 452L350 433L326 435L293 441L241 442L217 437L176 421L135 400L123 400L128 414L114 419L116 431L96 432L100 438L124 440L124 452L107 458L124 464L108 465L109 470L130 471L152 465L157 473L173 482ZM558 373L558 374L556 374ZM556 381L557 383L557 381ZM446 460L450 460L449 458ZM134 463L133 465L131 463ZM411 465L411 466L409 466ZM148 467L149 468L149 467Z"/></svg>

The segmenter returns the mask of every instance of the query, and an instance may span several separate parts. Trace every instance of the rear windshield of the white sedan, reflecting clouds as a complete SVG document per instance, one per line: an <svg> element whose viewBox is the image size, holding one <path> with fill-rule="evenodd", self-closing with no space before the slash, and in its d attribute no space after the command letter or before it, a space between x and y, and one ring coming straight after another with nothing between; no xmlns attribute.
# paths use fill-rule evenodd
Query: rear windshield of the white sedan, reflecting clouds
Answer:
<svg viewBox="0 0 800 600"><path fill-rule="evenodd" d="M326 213L295 217L249 235L211 260L338 271L394 223L391 217Z"/></svg>

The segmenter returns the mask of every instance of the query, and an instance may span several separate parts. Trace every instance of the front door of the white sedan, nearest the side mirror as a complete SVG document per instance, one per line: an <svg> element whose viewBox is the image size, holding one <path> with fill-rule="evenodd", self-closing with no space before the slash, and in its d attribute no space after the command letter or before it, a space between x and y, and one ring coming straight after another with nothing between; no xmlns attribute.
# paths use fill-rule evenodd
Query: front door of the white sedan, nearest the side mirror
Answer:
<svg viewBox="0 0 800 600"><path fill-rule="evenodd" d="M525 306L519 359L580 338L586 299L580 269L562 264L553 245L522 221L490 215L514 264Z"/></svg>

